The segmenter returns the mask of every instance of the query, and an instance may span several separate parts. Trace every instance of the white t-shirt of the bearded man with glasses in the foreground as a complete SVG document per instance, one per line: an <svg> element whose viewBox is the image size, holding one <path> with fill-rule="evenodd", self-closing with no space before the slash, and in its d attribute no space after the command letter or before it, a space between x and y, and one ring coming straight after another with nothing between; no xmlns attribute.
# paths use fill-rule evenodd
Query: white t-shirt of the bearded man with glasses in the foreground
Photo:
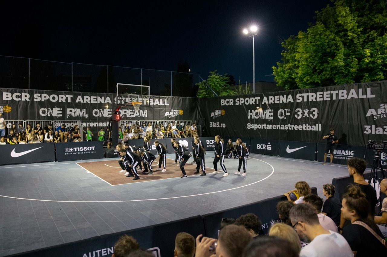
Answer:
<svg viewBox="0 0 387 257"><path fill-rule="evenodd" d="M353 257L353 252L347 240L339 233L318 235L310 244L303 247L300 257Z"/></svg>

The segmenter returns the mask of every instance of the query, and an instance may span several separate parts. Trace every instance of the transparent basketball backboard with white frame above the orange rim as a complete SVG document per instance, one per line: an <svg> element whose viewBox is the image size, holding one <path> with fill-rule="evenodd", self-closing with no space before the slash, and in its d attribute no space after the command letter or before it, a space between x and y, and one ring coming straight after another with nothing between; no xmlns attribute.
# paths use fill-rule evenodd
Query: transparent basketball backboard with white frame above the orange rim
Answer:
<svg viewBox="0 0 387 257"><path fill-rule="evenodd" d="M149 86L117 83L116 92L117 105L141 102L141 106L149 106Z"/></svg>

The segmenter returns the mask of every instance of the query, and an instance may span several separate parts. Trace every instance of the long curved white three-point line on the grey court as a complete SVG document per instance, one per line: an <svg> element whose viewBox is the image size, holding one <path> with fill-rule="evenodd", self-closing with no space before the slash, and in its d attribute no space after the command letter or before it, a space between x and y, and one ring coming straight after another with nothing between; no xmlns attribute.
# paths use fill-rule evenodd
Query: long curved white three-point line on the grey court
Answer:
<svg viewBox="0 0 387 257"><path fill-rule="evenodd" d="M186 196L175 196L175 197L155 198L155 199L142 199L142 200L121 200L121 201L57 201L57 200L41 200L41 199L19 198L19 197L4 196L4 195L0 195L0 197L19 199L19 200L30 200L30 201L56 202L56 203L127 203L127 202L140 202L140 201L168 200L168 199L176 199L176 198L186 198L186 197L191 197L191 196L202 196L202 195L206 195L206 194L216 194L216 193L222 193L222 192L226 192L226 191L230 191L230 190L234 190L234 189L238 189L238 188L244 188L246 186L251 186L253 184L259 183L259 182L269 178L274 173L274 167L270 163L262 161L262 160L259 160L259 159L251 158L251 157L250 157L250 159L254 159L254 160L261 161L261 162L264 162L264 163L268 164L272 168L272 172L266 178L260 179L259 181L255 181L253 183L250 183L250 184L247 184L247 185L244 185L244 186L238 186L236 188L229 188L229 189L224 189L224 190L221 190L221 191L209 192L209 193L203 193L203 194L192 194L192 195L186 195ZM80 166L80 167L82 167L82 166ZM131 184L133 184L133 183L131 183Z"/></svg>

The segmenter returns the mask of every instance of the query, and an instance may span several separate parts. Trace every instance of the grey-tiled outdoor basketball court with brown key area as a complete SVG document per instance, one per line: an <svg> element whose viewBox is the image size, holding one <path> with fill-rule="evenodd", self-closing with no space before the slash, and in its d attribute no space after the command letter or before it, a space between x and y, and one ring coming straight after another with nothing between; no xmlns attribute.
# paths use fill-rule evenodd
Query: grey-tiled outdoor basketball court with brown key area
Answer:
<svg viewBox="0 0 387 257"><path fill-rule="evenodd" d="M154 162L154 175L137 181L119 172L118 158L0 167L0 255L226 210L281 195L300 180L322 196L323 184L348 175L346 166L251 154L246 177L234 174L237 159L226 159L222 177L210 174L212 154L207 176L187 163L188 178L180 178L174 154L167 172Z"/></svg>

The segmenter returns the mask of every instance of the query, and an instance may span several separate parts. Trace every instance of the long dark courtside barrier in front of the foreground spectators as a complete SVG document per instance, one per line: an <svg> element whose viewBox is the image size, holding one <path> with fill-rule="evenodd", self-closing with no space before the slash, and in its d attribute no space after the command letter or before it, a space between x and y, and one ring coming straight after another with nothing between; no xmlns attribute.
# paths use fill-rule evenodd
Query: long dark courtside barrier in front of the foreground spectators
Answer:
<svg viewBox="0 0 387 257"><path fill-rule="evenodd" d="M312 187L312 193L317 195L317 189ZM55 256L55 257L89 257L111 256L113 245L122 235L130 235L140 243L140 248L149 249L155 257L170 256L175 249L175 237L179 232L187 232L197 237L202 234L206 237L218 238L218 230L222 218L238 218L240 215L254 213L262 221L262 233L267 234L274 223L279 222L276 205L285 201L285 196L276 196L249 205L211 213L203 216L171 221L160 225L128 230L110 235L101 235L77 242L56 245L53 247L33 250L10 256ZM238 238L236 238L238 240Z"/></svg>

